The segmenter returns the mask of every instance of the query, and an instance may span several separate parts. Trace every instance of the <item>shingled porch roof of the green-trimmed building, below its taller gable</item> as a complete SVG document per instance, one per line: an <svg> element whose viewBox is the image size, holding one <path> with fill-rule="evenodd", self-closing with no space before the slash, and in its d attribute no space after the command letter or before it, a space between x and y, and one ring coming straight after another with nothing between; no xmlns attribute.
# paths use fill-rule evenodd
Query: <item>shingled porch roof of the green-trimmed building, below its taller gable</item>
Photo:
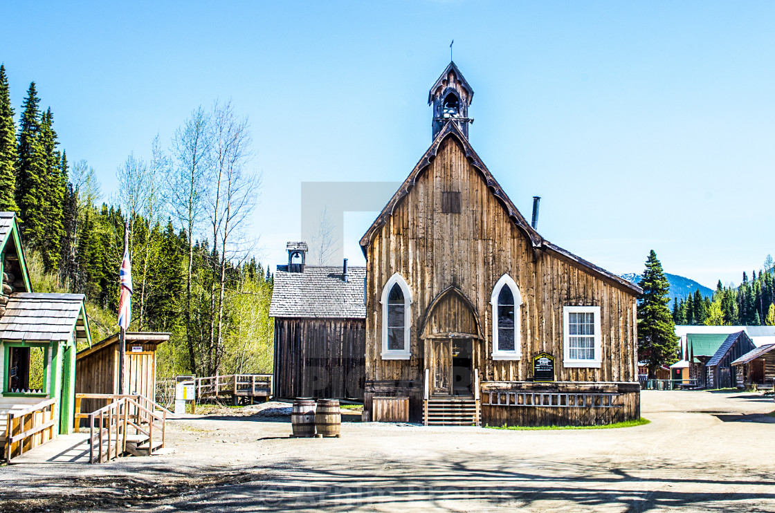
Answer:
<svg viewBox="0 0 775 513"><path fill-rule="evenodd" d="M84 294L15 292L0 318L0 339L62 341L76 328L78 339L88 338L83 305Z"/></svg>

